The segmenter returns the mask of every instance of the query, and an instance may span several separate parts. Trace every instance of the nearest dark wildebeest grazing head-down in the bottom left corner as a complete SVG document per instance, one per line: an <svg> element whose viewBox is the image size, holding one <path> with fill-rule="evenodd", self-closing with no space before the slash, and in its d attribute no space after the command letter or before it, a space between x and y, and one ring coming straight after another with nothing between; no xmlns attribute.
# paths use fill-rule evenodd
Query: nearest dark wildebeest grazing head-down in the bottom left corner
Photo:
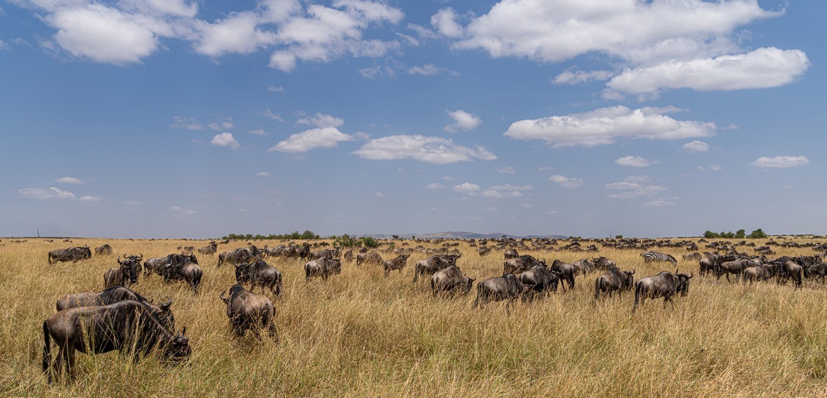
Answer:
<svg viewBox="0 0 827 398"><path fill-rule="evenodd" d="M96 354L118 350L131 353L137 361L157 346L163 359L179 362L191 353L189 339L184 335L186 329L174 334L152 314L149 306L140 301L60 310L43 321L43 372L49 374L52 367L55 376L60 376L65 361L69 376L74 377L75 350ZM55 339L60 349L54 363L50 338Z"/></svg>

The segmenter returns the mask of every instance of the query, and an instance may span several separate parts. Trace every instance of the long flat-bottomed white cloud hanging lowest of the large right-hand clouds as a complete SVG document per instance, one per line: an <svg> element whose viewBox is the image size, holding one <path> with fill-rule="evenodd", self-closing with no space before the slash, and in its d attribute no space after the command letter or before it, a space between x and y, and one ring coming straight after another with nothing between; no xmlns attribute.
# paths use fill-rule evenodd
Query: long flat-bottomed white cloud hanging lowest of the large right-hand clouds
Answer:
<svg viewBox="0 0 827 398"><path fill-rule="evenodd" d="M604 107L595 111L515 121L504 135L518 140L545 140L553 147L613 144L615 140L682 140L715 134L713 122L677 121L674 107Z"/></svg>

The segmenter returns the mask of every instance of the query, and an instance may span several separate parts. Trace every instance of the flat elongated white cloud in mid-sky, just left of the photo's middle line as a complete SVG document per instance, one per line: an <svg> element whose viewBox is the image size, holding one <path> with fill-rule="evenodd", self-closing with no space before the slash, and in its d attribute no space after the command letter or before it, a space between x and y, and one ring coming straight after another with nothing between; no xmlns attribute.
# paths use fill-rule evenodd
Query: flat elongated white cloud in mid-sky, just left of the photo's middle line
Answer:
<svg viewBox="0 0 827 398"><path fill-rule="evenodd" d="M363 159L415 159L426 163L447 164L471 162L474 159L494 160L495 154L481 146L471 149L452 140L423 135L389 135L366 142L353 151Z"/></svg>

